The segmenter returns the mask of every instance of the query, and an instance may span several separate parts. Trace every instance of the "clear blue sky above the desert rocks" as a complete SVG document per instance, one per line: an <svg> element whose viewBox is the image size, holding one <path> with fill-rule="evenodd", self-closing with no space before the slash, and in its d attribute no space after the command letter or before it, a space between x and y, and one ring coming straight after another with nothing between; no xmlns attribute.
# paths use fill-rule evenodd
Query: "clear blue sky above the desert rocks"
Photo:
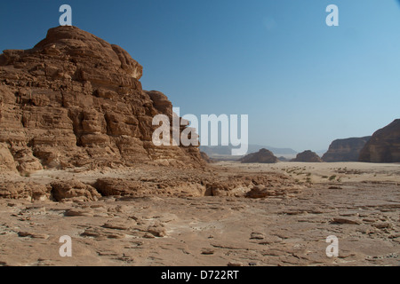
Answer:
<svg viewBox="0 0 400 284"><path fill-rule="evenodd" d="M0 51L33 47L61 4L138 60L143 88L180 114L249 114L251 144L323 150L400 117L395 0L14 0L0 10ZM325 24L328 4L339 27Z"/></svg>

